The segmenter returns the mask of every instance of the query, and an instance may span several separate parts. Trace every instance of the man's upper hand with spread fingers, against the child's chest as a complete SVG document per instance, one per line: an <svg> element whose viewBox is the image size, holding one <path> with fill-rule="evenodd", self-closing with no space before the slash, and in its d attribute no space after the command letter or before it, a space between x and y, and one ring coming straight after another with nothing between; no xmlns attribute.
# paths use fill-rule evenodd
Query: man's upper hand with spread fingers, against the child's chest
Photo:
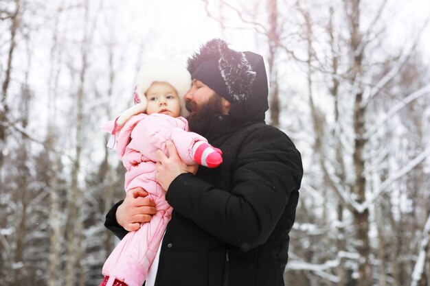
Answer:
<svg viewBox="0 0 430 286"><path fill-rule="evenodd" d="M183 163L181 158L179 158L176 147L172 141L166 142L166 147L169 152L169 156L166 156L161 150L157 150L157 175L155 178L157 182L161 184L161 187L166 191L169 189L172 181L179 175L183 173L196 174L199 165L186 165Z"/></svg>

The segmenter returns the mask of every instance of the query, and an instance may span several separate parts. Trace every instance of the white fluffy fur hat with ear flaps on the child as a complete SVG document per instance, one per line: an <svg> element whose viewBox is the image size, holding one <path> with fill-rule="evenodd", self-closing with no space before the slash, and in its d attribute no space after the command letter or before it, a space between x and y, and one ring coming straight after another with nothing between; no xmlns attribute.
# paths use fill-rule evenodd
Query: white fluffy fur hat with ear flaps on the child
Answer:
<svg viewBox="0 0 430 286"><path fill-rule="evenodd" d="M122 126L124 123L139 113L146 110L145 93L150 88L153 82L167 82L177 91L181 101L181 116L187 117L188 110L185 108L184 95L191 88L191 75L185 67L179 64L168 62L167 60L156 60L144 64L137 75L137 83L135 88L135 106L128 108L122 112L117 119L117 126Z"/></svg>

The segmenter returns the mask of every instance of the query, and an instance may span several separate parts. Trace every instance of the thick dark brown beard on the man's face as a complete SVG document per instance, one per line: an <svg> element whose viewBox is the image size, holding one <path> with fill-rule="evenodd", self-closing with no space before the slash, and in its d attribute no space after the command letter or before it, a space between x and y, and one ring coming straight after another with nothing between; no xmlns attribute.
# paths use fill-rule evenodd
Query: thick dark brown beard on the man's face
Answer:
<svg viewBox="0 0 430 286"><path fill-rule="evenodd" d="M222 115L223 100L219 95L212 95L207 102L197 105L195 102L185 102L185 107L190 111L188 117L188 127L190 131L199 133L203 136L209 132L210 124L215 115Z"/></svg>

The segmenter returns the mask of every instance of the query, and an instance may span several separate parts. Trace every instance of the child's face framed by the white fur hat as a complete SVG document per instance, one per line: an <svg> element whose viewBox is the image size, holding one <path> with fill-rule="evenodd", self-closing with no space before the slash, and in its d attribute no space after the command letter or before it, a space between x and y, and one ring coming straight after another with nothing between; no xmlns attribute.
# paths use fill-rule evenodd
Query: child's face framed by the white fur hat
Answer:
<svg viewBox="0 0 430 286"><path fill-rule="evenodd" d="M181 104L178 93L166 82L153 82L145 93L148 105L146 114L163 113L171 117L179 117Z"/></svg>

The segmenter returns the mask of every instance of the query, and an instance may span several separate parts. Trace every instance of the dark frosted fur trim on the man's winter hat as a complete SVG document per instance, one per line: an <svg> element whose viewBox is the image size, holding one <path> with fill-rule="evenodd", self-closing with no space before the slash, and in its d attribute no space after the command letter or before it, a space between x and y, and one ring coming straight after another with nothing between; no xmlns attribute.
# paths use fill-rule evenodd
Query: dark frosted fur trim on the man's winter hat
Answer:
<svg viewBox="0 0 430 286"><path fill-rule="evenodd" d="M225 41L215 38L203 45L198 53L188 58L188 71L193 78L196 70L206 62L218 64L214 68L218 69L227 87L227 94L220 94L220 96L225 97L229 102L241 102L249 97L256 73L244 53L229 49ZM204 80L203 83L205 83Z"/></svg>

